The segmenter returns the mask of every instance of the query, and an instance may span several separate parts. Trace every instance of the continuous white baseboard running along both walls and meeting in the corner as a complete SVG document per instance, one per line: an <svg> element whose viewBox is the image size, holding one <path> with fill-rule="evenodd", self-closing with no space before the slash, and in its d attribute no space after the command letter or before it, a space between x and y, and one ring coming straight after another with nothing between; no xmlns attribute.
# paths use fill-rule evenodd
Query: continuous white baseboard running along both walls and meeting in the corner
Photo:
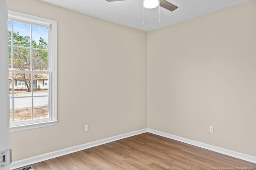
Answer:
<svg viewBox="0 0 256 170"><path fill-rule="evenodd" d="M38 163L38 162L42 162L42 161L45 161L45 160L56 158L58 156L63 156L63 155L66 155L66 154L70 154L70 153L77 152L77 151L80 151L80 150L92 148L94 146L99 146L101 144L106 144L106 143L113 142L113 141L116 141L116 140L120 140L120 139L123 139L123 138L128 138L130 136L134 136L134 135L137 135L137 134L142 134L142 133L145 133L145 132L149 132L149 133L156 134L156 135L159 135L159 136L163 136L163 137L166 137L166 138L178 140L180 142L184 142L184 143L187 143L187 144L198 146L200 148L205 148L205 149L208 149L208 150L212 150L214 152L222 153L222 154L225 154L225 155L228 155L228 156L232 156L232 157L235 157L235 158L239 158L239 159L242 159L242 160L246 160L246 161L249 161L249 162L256 163L256 157L255 156L243 154L243 153L240 153L240 152L235 152L235 151L220 148L220 147L217 147L217 146L212 146L212 145L209 145L209 144L205 144L205 143L202 143L202 142L197 142L197 141L190 140L190 139L187 139L187 138L182 138L180 136L175 136L175 135L168 134L168 133L165 133L165 132L160 132L158 130L145 128L145 129L137 130L137 131L134 131L134 132L120 134L120 135L113 136L113 137L110 137L110 138L105 138L105 139L102 139L102 140L97 140L97 141L94 141L94 142L89 142L89 143L86 143L86 144L81 144L81 145L78 145L78 146L73 146L73 147L70 147L70 148L65 148L65 149L62 149L62 150L57 150L57 151L54 151L54 152L49 152L49 153L46 153L46 154L33 156L31 158L18 160L18 161L12 162L12 164L10 165L10 169L16 169L16 168L20 168L20 167L23 167L23 166L28 166L28 165L35 164L35 163Z"/></svg>

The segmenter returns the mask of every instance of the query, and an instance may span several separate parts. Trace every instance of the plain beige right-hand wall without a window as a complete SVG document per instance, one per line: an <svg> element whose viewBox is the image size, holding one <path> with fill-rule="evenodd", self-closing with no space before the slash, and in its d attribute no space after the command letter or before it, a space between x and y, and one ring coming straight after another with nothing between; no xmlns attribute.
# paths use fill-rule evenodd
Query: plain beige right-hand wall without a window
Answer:
<svg viewBox="0 0 256 170"><path fill-rule="evenodd" d="M256 156L255 74L256 0L148 32L148 128Z"/></svg>

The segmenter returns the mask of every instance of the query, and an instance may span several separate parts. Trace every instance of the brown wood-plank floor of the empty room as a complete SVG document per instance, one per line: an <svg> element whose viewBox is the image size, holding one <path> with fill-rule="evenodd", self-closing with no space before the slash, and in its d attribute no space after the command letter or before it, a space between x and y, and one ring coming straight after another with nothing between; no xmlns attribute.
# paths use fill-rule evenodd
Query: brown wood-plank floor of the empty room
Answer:
<svg viewBox="0 0 256 170"><path fill-rule="evenodd" d="M248 169L256 164L143 133L32 165L35 170Z"/></svg>

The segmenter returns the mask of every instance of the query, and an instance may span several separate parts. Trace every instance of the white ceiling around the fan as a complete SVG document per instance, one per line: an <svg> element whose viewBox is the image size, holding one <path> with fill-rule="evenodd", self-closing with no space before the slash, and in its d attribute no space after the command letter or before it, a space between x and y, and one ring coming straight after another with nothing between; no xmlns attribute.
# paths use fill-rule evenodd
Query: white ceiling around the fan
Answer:
<svg viewBox="0 0 256 170"><path fill-rule="evenodd" d="M168 0L179 8L170 12L159 8L144 8L144 25L142 26L142 0L124 0L107 2L106 0L41 0L69 10L74 10L124 26L143 31L152 31L198 16L236 6L250 0Z"/></svg>

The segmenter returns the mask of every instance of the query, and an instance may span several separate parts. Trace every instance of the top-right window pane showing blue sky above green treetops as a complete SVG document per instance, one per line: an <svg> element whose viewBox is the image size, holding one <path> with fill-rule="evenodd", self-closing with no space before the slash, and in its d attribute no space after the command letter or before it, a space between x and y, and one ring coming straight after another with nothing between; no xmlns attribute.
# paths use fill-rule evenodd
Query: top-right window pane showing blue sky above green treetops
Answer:
<svg viewBox="0 0 256 170"><path fill-rule="evenodd" d="M48 29L44 27L32 26L32 45L34 48L47 49Z"/></svg>

